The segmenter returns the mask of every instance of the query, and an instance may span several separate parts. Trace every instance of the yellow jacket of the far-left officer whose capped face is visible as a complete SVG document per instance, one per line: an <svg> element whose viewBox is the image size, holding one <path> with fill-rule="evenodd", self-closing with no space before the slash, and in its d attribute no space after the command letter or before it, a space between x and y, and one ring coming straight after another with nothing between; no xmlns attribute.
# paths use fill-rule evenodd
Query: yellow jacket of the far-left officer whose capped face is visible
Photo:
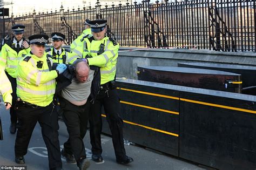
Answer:
<svg viewBox="0 0 256 170"><path fill-rule="evenodd" d="M23 49L17 53L14 49L11 48L11 46L11 42L5 43L2 46L0 56L0 68L8 72L11 77L16 78L16 69L18 62L30 52L30 47L28 49Z"/></svg>

